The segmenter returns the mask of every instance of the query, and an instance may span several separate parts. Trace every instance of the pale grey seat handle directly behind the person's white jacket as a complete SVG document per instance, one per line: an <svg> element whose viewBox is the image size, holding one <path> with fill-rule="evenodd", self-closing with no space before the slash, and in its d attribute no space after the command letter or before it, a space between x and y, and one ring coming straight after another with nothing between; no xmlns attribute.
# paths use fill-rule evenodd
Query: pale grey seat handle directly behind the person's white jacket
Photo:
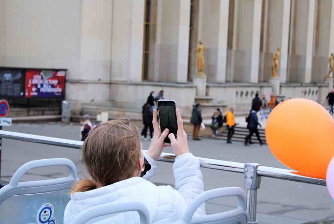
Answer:
<svg viewBox="0 0 334 224"><path fill-rule="evenodd" d="M143 203L140 202L123 202L123 203L108 203L103 205L94 206L86 209L77 215L71 224L84 224L91 219L111 215L119 212L137 211L140 217L141 224L150 223L150 215ZM107 218L107 217L106 217Z"/></svg>

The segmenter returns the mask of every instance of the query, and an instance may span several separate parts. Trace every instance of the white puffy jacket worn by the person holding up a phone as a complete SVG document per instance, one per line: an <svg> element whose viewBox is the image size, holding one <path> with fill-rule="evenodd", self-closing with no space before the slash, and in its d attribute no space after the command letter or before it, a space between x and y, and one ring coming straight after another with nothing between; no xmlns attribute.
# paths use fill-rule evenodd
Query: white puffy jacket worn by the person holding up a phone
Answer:
<svg viewBox="0 0 334 224"><path fill-rule="evenodd" d="M151 223L176 223L179 221L187 205L204 191L198 158L191 153L185 153L175 158L173 170L177 190L174 190L171 186L155 186L146 180L153 175L157 162L146 153L144 154L152 166L144 178L133 177L95 190L72 194L65 209L64 224L70 224L75 216L92 206L133 201L146 205L150 213ZM205 204L201 205L195 214L205 215ZM95 218L90 223L135 224L140 223L139 221L137 212L124 212Z"/></svg>

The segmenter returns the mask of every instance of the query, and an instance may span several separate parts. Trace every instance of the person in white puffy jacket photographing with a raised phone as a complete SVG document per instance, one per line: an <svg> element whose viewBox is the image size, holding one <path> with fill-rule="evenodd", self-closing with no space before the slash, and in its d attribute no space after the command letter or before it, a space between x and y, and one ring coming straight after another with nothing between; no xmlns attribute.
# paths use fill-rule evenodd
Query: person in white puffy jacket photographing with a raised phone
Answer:
<svg viewBox="0 0 334 224"><path fill-rule="evenodd" d="M64 224L71 223L86 209L111 202L141 202L148 208L151 223L177 223L192 200L204 191L204 186L199 159L189 152L178 109L176 116L178 131L175 139L173 133L168 135L168 129L161 133L154 110L154 135L147 153L142 150L138 128L127 119L112 120L94 128L81 150L81 160L90 178L82 179L72 187ZM173 170L177 190L147 181L157 167L156 159L167 146L164 143L167 135L176 156ZM149 165L150 170L146 169ZM205 215L205 204L196 214ZM126 224L139 223L139 220L138 213L131 211L91 221Z"/></svg>

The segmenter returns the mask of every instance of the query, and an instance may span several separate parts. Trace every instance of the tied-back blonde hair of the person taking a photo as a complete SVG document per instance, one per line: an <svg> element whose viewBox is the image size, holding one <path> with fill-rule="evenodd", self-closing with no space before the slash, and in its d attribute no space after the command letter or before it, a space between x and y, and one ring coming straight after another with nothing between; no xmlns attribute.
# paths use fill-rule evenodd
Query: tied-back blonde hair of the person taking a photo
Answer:
<svg viewBox="0 0 334 224"><path fill-rule="evenodd" d="M127 119L94 128L81 149L81 160L91 178L78 181L69 194L101 188L140 172L141 141L138 128Z"/></svg>

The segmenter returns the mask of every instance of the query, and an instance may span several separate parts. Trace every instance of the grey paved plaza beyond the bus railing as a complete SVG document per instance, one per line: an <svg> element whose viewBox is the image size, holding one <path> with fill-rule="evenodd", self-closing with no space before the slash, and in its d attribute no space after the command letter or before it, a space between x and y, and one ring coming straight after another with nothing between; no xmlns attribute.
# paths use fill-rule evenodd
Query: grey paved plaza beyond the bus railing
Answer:
<svg viewBox="0 0 334 224"><path fill-rule="evenodd" d="M4 130L38 134L78 140L78 125L54 124L14 124ZM235 161L258 162L266 166L286 168L270 152L267 145L244 147L242 143L225 144L223 140L189 140L190 151L199 157ZM147 149L149 141L143 141ZM171 152L166 148L165 152ZM13 173L23 163L42 158L64 157L71 159L78 169L78 174L85 175L80 163L80 150L3 139L1 159L1 180L9 181ZM310 165L314 165L310 163ZM315 165L314 165L315 166ZM316 166L315 166L316 167ZM243 175L211 169L202 169L205 190L239 186L243 188ZM22 180L41 180L68 175L65 167L47 167L31 170ZM174 186L172 164L158 162L158 169L151 181L157 185ZM235 198L216 199L206 203L208 214L221 212L236 206ZM324 186L303 184L263 178L258 191L258 221L262 224L287 223L299 224L315 220L334 220L333 201Z"/></svg>

